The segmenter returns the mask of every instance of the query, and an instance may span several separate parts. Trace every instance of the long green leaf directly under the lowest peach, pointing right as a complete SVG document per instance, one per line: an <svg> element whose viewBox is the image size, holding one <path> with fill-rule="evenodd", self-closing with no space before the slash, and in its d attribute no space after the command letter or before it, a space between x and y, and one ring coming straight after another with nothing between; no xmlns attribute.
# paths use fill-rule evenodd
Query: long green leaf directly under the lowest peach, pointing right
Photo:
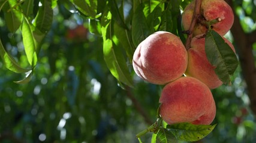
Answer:
<svg viewBox="0 0 256 143"><path fill-rule="evenodd" d="M177 123L167 125L167 129L175 136L176 139L181 141L198 141L207 136L216 125L193 125L191 123Z"/></svg>

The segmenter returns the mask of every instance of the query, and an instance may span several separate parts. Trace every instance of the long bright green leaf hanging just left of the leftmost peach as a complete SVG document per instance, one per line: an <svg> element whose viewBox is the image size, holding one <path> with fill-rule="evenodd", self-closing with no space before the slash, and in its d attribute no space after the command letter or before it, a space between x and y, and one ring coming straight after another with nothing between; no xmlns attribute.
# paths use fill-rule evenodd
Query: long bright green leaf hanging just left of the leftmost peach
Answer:
<svg viewBox="0 0 256 143"><path fill-rule="evenodd" d="M112 14L110 11L104 13L101 25L103 34L103 54L107 67L116 79L132 87L132 79L124 55L121 49L113 42L116 36L113 35Z"/></svg>

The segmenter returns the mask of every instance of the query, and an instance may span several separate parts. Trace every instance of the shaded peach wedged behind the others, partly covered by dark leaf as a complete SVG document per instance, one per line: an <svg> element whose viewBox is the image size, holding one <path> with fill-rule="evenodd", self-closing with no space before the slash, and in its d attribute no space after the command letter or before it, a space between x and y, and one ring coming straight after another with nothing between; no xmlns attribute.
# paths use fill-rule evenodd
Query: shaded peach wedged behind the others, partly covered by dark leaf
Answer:
<svg viewBox="0 0 256 143"><path fill-rule="evenodd" d="M191 48L188 49L188 68L185 74L201 80L210 89L218 88L222 82L214 71L215 67L210 64L206 57L205 38L202 36L198 35L192 38ZM234 51L232 43L226 38L223 39Z"/></svg>

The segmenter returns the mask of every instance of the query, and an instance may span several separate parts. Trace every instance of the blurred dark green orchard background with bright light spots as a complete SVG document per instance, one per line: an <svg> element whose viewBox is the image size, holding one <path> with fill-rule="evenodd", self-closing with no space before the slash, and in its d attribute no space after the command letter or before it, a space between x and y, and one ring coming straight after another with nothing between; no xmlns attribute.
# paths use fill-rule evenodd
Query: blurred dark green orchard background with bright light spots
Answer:
<svg viewBox="0 0 256 143"><path fill-rule="evenodd" d="M255 1L234 2L244 32L255 31ZM141 80L131 63L135 88L121 86L104 61L102 37L89 32L89 20L62 4L53 14L31 82L14 83L24 75L0 61L0 142L138 142L135 135L156 120L162 87ZM28 66L21 33L9 33L3 18L0 35L6 50ZM231 33L226 37L234 41ZM255 49L256 43L254 55ZM217 126L202 142L256 141L241 71L239 66L231 85L212 91ZM151 135L141 140L150 142Z"/></svg>

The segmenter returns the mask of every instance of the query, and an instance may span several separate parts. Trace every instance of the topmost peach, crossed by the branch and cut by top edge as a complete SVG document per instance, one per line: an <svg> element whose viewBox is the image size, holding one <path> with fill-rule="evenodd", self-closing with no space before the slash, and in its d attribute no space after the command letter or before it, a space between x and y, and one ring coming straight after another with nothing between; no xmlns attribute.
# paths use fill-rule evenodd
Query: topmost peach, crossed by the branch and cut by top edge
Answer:
<svg viewBox="0 0 256 143"><path fill-rule="evenodd" d="M195 1L188 4L182 14L182 24L184 30L188 30L192 15L194 13ZM200 17L205 20L214 20L221 18L221 21L216 24L212 24L212 29L219 33L219 35L225 35L234 22L234 14L231 7L224 0L203 0L200 9ZM199 20L200 21L200 20ZM206 26L198 22L194 28L194 36L206 33Z"/></svg>

